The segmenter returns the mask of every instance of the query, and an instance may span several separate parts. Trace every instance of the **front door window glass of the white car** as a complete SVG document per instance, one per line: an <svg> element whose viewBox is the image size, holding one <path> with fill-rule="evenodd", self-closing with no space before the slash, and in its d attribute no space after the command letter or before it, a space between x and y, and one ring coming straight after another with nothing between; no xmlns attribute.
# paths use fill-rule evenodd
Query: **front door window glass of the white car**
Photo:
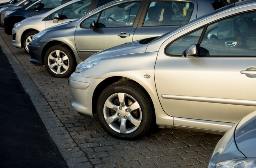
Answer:
<svg viewBox="0 0 256 168"><path fill-rule="evenodd" d="M83 0L64 7L60 19L79 18L87 13L92 0Z"/></svg>

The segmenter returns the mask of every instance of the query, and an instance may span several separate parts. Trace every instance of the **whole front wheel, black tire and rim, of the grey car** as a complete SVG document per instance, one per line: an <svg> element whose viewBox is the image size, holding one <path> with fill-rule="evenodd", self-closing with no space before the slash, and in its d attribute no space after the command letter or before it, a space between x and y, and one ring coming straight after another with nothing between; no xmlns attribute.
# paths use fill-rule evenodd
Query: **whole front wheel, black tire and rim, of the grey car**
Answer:
<svg viewBox="0 0 256 168"><path fill-rule="evenodd" d="M57 52L59 51L59 57ZM50 59L50 54L54 59ZM65 57L67 56L67 57ZM62 60L65 57L65 60ZM49 59L48 59L49 58ZM53 65L53 68L50 68L49 65ZM74 71L75 63L72 52L65 45L55 45L50 47L44 55L44 65L46 70L53 76L57 78L67 78ZM59 70L58 70L59 68ZM59 73L60 72L60 73Z"/></svg>

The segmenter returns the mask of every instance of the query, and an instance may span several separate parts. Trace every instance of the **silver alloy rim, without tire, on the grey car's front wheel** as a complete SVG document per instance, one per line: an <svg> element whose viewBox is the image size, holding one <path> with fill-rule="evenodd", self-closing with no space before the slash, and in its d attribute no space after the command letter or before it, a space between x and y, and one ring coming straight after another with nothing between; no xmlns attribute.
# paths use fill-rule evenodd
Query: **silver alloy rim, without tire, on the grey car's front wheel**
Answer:
<svg viewBox="0 0 256 168"><path fill-rule="evenodd" d="M64 74L69 67L68 56L61 50L52 51L47 59L49 68L55 74Z"/></svg>

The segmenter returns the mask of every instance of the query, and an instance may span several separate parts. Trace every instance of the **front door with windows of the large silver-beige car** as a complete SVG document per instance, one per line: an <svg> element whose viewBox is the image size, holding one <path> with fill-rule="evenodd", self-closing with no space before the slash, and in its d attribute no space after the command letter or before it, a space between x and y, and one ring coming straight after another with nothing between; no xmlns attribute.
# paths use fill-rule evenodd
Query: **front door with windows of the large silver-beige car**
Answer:
<svg viewBox="0 0 256 168"><path fill-rule="evenodd" d="M156 88L174 125L184 118L235 123L256 110L255 17L253 11L194 26L160 47ZM182 57L191 44L198 57Z"/></svg>

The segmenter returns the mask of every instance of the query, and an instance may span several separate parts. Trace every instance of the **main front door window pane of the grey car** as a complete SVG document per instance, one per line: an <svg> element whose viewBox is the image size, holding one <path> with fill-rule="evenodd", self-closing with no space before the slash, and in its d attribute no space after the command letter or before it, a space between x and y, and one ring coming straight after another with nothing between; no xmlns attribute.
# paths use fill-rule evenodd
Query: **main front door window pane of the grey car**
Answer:
<svg viewBox="0 0 256 168"><path fill-rule="evenodd" d="M141 1L123 3L102 12L99 23L106 27L131 27L140 8Z"/></svg>

